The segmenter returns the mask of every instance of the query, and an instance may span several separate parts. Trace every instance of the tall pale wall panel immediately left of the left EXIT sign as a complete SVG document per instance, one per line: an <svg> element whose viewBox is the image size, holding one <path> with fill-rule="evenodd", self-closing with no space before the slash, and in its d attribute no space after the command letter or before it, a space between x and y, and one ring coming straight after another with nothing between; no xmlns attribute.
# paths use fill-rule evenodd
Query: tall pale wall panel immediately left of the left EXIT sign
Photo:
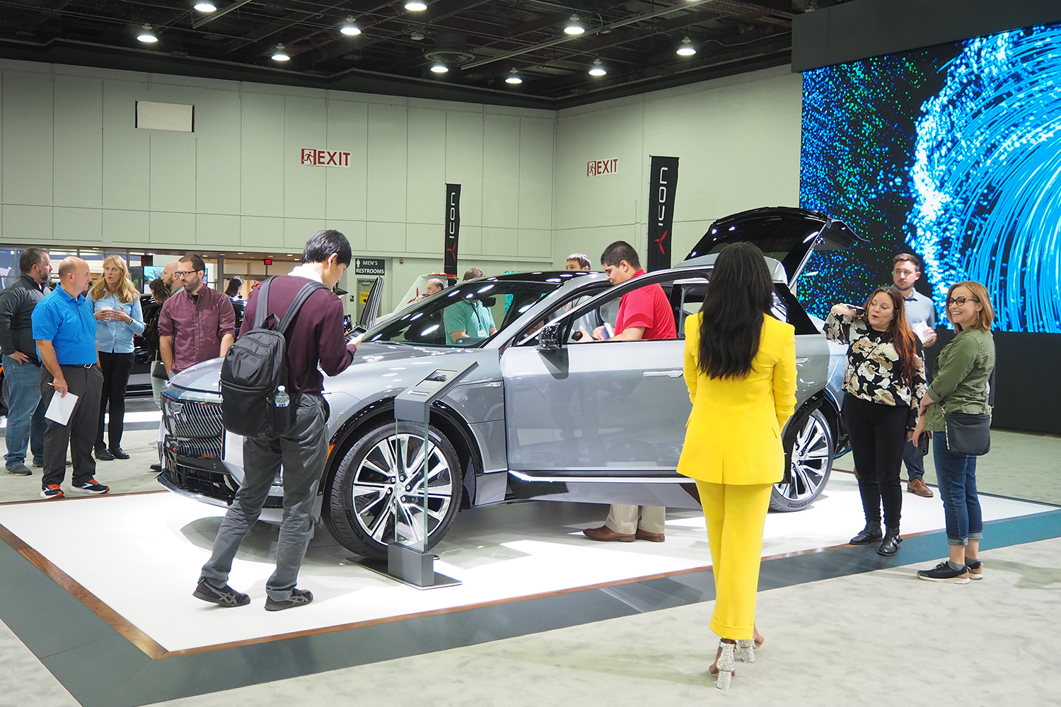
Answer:
<svg viewBox="0 0 1061 707"><path fill-rule="evenodd" d="M245 91L242 101L240 212L283 216L283 96Z"/></svg>

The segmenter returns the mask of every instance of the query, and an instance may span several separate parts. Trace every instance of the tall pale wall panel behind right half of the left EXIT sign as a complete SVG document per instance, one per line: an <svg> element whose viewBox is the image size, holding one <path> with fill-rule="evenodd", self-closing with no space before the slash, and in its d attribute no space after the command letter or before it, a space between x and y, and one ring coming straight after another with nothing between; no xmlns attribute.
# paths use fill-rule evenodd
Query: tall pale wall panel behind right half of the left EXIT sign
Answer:
<svg viewBox="0 0 1061 707"><path fill-rule="evenodd" d="M350 169L325 171L325 215L364 219L368 192L368 104L329 99L327 149L350 153ZM364 234L364 228L361 233Z"/></svg>

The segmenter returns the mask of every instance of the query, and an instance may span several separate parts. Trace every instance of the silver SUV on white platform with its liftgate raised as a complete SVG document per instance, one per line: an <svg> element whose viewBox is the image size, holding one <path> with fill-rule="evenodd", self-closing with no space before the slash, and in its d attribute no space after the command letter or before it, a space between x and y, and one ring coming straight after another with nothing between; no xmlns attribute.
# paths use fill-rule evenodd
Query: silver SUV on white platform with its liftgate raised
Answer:
<svg viewBox="0 0 1061 707"><path fill-rule="evenodd" d="M843 436L845 351L825 340L790 287L812 251L857 237L821 214L758 209L713 224L676 267L621 285L599 272L521 272L463 282L413 304L370 326L350 368L326 378L330 449L317 515L344 546L382 559L396 514L422 527L422 481L403 479L421 479L424 463L427 547L462 507L544 499L699 508L695 485L675 472L691 410L684 320L699 311L717 252L735 241L762 248L773 273L773 315L796 328L796 414L784 429L788 463L770 506L807 507ZM582 334L613 322L623 294L650 283L669 297L677 339L593 342ZM488 308L495 333L484 325L469 332L482 336L452 340L443 320L462 300ZM395 422L394 399L436 369L470 361L479 366L432 409L424 460L417 427ZM221 363L194 366L167 386L158 477L215 506L230 503L243 480L242 438L221 422ZM281 472L266 522L281 517L282 483Z"/></svg>

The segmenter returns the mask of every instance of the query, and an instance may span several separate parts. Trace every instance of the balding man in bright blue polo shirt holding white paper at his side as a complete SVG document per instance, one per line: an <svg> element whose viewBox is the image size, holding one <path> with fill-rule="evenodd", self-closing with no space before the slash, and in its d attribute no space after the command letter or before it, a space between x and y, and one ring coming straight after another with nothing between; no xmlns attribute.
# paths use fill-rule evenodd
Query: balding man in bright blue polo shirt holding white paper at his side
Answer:
<svg viewBox="0 0 1061 707"><path fill-rule="evenodd" d="M59 263L59 284L33 311L33 338L45 370L40 375L40 404L48 409L56 394L74 394L77 402L67 424L48 421L45 431L45 474L41 498L63 498L66 450L73 462L71 485L83 493L110 491L98 482L92 442L100 423L103 372L95 351L95 317L85 290L92 276L88 263L67 258Z"/></svg>

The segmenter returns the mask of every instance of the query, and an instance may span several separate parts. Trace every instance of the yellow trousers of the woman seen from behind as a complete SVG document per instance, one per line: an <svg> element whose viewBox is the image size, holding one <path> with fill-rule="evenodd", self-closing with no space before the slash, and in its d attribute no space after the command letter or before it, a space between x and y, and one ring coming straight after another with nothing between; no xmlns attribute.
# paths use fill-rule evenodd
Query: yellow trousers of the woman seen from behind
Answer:
<svg viewBox="0 0 1061 707"><path fill-rule="evenodd" d="M763 526L772 483L738 485L696 481L715 576L711 630L721 638L751 639L763 553Z"/></svg>

